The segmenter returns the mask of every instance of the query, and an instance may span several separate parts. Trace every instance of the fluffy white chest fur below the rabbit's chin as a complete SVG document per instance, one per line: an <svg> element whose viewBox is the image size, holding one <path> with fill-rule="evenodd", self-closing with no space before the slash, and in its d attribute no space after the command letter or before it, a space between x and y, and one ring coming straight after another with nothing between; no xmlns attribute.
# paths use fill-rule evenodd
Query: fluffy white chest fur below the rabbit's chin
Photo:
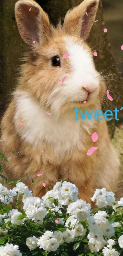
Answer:
<svg viewBox="0 0 123 256"><path fill-rule="evenodd" d="M46 140L52 144L53 150L62 157L69 148L81 147L80 122L70 120L68 116L56 119L53 115L47 115L46 110L31 99L28 94L20 93L17 97L16 114L14 116L16 129L19 129L21 137L34 146ZM20 129L17 125L19 117L22 117L25 126Z"/></svg>

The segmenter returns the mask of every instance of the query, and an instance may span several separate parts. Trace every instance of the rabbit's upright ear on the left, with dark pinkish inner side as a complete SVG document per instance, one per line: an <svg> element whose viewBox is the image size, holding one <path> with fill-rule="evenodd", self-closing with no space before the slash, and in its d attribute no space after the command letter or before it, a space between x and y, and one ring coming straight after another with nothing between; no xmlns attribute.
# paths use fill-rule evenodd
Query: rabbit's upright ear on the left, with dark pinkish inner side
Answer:
<svg viewBox="0 0 123 256"><path fill-rule="evenodd" d="M40 42L43 37L50 35L48 15L33 0L19 0L15 4L15 17L21 37L27 45Z"/></svg>

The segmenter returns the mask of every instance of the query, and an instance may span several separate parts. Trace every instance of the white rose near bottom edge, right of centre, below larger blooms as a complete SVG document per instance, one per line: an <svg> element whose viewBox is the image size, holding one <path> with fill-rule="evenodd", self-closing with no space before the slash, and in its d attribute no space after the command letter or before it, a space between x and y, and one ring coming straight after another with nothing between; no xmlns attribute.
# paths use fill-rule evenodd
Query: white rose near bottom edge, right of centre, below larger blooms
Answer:
<svg viewBox="0 0 123 256"><path fill-rule="evenodd" d="M99 241L99 240L96 240L94 238L91 238L89 240L89 249L92 251L92 252L98 252L99 250L101 250L104 246L104 240L102 241Z"/></svg>

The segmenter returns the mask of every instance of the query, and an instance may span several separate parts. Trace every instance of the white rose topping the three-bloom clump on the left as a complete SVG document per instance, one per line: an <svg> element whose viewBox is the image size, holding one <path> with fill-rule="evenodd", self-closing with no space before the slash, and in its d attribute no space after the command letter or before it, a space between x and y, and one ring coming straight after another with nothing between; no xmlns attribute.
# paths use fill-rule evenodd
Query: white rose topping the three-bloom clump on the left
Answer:
<svg viewBox="0 0 123 256"><path fill-rule="evenodd" d="M29 206L34 206L34 207L41 207L44 206L43 201L39 197L27 197L24 200L24 206L23 209L26 210Z"/></svg>

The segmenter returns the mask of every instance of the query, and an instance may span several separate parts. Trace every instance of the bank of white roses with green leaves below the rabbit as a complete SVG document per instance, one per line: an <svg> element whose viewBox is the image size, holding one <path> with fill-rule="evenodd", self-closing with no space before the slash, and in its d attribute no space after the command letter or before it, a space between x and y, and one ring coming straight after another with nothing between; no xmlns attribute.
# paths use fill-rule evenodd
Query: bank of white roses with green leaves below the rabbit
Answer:
<svg viewBox="0 0 123 256"><path fill-rule="evenodd" d="M12 190L0 184L0 200L0 256L123 255L123 198L116 201L105 188L92 197L95 210L67 181L57 182L42 199L23 182Z"/></svg>

